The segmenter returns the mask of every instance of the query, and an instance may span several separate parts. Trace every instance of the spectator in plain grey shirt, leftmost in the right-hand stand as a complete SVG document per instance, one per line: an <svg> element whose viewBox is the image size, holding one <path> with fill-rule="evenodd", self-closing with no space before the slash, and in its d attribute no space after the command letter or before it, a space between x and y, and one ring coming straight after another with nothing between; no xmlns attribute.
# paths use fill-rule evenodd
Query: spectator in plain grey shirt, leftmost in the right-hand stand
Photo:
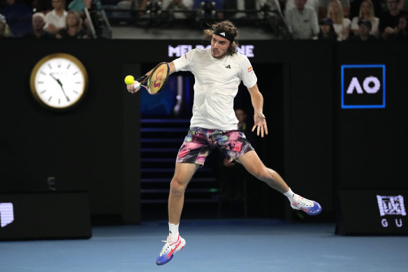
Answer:
<svg viewBox="0 0 408 272"><path fill-rule="evenodd" d="M307 0L295 0L296 8L286 10L285 17L293 39L312 39L319 34L317 15L305 7Z"/></svg>

